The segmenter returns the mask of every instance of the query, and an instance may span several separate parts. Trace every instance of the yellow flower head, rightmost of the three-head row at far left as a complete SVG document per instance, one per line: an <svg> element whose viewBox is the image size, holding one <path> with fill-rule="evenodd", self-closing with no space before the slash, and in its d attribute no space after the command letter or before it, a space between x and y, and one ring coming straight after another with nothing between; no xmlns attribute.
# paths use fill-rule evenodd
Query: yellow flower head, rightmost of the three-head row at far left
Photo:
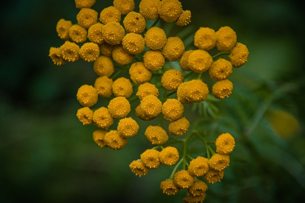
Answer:
<svg viewBox="0 0 305 203"><path fill-rule="evenodd" d="M93 62L99 57L99 45L93 42L84 43L79 50L79 55L84 61Z"/></svg>

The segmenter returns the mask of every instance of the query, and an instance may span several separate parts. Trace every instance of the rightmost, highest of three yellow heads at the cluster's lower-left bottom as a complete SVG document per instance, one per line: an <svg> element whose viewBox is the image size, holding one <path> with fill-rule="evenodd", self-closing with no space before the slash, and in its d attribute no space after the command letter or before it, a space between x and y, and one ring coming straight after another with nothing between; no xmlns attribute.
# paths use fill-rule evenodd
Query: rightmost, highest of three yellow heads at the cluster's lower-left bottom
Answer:
<svg viewBox="0 0 305 203"><path fill-rule="evenodd" d="M120 135L123 138L131 138L135 136L139 131L139 125L137 121L129 118L122 118L120 119L118 125L117 125L117 131L119 131Z"/></svg>

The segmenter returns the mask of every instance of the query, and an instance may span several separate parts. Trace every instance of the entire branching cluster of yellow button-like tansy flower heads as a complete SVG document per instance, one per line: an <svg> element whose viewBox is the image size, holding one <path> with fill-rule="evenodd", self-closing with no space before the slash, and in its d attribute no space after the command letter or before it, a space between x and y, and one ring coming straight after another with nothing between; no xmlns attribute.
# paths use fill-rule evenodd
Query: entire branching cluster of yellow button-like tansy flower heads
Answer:
<svg viewBox="0 0 305 203"><path fill-rule="evenodd" d="M130 170L141 177L161 165L174 166L171 176L160 183L161 191L172 195L186 189L185 202L203 202L207 183L214 184L223 178L235 140L231 134L223 133L215 142L206 142L198 131L188 132L191 123L183 116L185 105L205 102L210 92L217 99L228 97L233 90L228 77L233 68L246 63L249 55L246 45L237 42L237 35L229 26L217 31L200 27L194 35L196 49L186 50L181 38L167 36L156 26L158 21L181 27L191 22L191 12L183 10L179 0L142 0L139 12L134 11L133 0L114 0L113 5L100 11L91 8L94 4L95 0L75 0L79 9L77 23L60 19L56 31L64 43L49 50L55 65L80 59L92 63L95 81L82 85L76 94L82 106L77 110L78 120L97 127L93 132L97 145L121 150L142 127L138 119L149 122L160 116L159 124L150 124L144 133L154 146L131 161ZM148 27L147 20L155 23ZM220 53L211 56L208 51L212 49ZM225 54L227 59L215 59ZM167 61L176 61L180 68L168 68ZM206 71L216 81L212 91L201 79ZM120 76L122 73L129 77ZM188 73L199 75L191 79ZM156 81L153 76L159 78L157 82L153 82ZM136 101L139 104L132 109L131 103ZM136 117L129 116L131 111ZM163 119L169 121L167 127L163 126ZM206 145L207 158L194 159L185 150L180 156L177 147L168 142L186 145L193 135ZM181 136L186 137L179 139ZM216 145L216 152L210 144ZM178 170L181 163L183 168Z"/></svg>

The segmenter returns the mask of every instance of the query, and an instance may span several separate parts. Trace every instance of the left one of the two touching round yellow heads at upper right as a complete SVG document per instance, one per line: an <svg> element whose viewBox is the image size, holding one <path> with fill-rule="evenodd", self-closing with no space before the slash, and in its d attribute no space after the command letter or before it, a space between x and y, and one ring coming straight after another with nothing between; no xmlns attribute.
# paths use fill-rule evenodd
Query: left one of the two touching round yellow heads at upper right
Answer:
<svg viewBox="0 0 305 203"><path fill-rule="evenodd" d="M216 32L209 27L200 27L194 36L194 45L199 49L210 50L215 47L217 40Z"/></svg>

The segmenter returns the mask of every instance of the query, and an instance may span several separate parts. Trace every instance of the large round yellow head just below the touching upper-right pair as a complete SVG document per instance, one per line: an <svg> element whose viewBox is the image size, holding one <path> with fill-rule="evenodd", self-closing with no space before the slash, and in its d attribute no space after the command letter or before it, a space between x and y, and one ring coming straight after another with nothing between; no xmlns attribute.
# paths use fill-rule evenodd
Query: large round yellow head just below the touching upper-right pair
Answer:
<svg viewBox="0 0 305 203"><path fill-rule="evenodd" d="M188 67L196 73L205 72L212 66L212 63L212 56L202 49L197 49L188 56Z"/></svg>

